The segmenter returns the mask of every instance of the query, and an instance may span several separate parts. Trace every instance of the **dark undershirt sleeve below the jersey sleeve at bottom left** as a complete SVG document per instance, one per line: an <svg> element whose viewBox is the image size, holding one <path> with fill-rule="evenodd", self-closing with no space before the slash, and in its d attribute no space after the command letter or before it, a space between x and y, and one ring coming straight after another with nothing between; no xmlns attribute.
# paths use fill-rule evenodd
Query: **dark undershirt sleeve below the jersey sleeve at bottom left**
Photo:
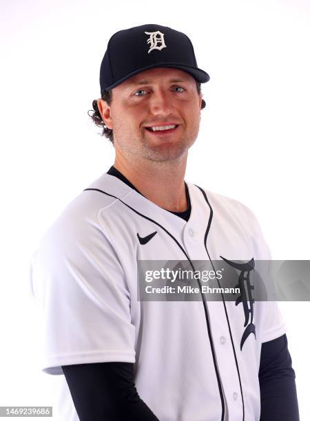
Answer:
<svg viewBox="0 0 310 421"><path fill-rule="evenodd" d="M138 396L134 364L63 365L80 421L158 421Z"/></svg>

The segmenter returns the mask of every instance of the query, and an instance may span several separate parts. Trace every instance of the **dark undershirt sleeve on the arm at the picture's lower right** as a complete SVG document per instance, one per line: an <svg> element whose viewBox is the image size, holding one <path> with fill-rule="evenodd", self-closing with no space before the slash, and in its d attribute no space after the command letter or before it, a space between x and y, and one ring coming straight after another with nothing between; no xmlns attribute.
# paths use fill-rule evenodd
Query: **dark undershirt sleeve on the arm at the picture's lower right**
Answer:
<svg viewBox="0 0 310 421"><path fill-rule="evenodd" d="M260 355L260 421L299 421L295 371L286 334L262 343Z"/></svg>

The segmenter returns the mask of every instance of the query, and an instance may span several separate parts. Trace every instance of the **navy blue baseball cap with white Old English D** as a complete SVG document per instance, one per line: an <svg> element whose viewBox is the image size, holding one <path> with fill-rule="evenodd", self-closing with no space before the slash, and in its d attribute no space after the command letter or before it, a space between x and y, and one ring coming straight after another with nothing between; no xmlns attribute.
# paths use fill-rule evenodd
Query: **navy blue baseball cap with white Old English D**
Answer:
<svg viewBox="0 0 310 421"><path fill-rule="evenodd" d="M149 23L111 36L100 67L101 94L154 67L183 70L199 83L205 83L210 78L197 67L194 47L187 35L167 26Z"/></svg>

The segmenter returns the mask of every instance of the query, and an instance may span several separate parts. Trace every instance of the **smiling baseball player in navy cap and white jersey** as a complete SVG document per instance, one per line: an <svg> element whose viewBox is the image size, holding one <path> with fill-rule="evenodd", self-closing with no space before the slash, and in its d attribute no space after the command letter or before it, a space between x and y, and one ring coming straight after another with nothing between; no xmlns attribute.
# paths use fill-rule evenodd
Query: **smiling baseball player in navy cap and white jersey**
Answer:
<svg viewBox="0 0 310 421"><path fill-rule="evenodd" d="M271 258L247 206L184 180L208 80L172 28L141 25L107 44L92 119L114 165L66 206L32 259L42 369L63 375L63 420L298 420L277 303L251 301L246 314L201 291L139 297L141 261Z"/></svg>

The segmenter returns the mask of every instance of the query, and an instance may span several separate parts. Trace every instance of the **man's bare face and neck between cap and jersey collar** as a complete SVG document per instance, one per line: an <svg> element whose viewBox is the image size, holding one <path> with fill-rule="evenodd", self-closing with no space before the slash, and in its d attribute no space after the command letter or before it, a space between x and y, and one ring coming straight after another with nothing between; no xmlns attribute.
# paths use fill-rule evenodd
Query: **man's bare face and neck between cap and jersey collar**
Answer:
<svg viewBox="0 0 310 421"><path fill-rule="evenodd" d="M98 107L116 139L114 167L158 206L186 210L187 151L198 136L202 103L196 80L158 67L132 76L112 95L110 106L100 99Z"/></svg>

